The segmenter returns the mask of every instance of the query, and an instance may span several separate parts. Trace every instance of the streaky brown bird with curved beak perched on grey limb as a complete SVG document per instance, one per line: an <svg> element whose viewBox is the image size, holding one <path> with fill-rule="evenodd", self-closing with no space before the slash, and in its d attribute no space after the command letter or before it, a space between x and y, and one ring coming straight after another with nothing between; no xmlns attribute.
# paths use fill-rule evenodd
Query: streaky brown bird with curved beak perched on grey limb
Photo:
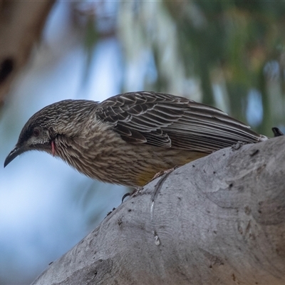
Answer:
<svg viewBox="0 0 285 285"><path fill-rule="evenodd" d="M40 150L95 180L140 187L157 172L237 142L267 139L209 105L166 93L129 92L100 103L61 100L42 108L24 125L4 167L23 152Z"/></svg>

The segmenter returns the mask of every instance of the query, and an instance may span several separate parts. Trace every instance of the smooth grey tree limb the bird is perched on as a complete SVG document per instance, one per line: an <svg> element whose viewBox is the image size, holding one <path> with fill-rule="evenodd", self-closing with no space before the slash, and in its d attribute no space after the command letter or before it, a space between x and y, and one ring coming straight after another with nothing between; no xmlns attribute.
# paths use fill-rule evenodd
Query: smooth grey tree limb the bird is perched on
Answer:
<svg viewBox="0 0 285 285"><path fill-rule="evenodd" d="M285 284L284 175L285 136L177 168L123 202L33 285Z"/></svg>

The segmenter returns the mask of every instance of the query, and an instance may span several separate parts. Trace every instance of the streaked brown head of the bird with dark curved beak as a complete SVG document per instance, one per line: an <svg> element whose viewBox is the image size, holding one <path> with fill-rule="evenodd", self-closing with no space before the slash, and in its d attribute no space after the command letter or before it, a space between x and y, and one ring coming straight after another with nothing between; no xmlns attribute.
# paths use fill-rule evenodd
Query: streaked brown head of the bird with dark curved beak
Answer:
<svg viewBox="0 0 285 285"><path fill-rule="evenodd" d="M39 110L24 125L16 146L6 157L4 167L28 150L46 151L55 155L56 138L76 137L96 105L90 100L63 100Z"/></svg>

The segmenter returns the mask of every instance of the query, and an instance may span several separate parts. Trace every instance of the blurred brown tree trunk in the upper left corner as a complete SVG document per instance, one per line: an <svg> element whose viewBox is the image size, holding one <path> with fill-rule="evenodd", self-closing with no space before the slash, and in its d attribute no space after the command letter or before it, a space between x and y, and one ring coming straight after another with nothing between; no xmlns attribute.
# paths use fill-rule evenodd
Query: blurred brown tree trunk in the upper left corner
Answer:
<svg viewBox="0 0 285 285"><path fill-rule="evenodd" d="M55 0L0 0L0 103L28 61Z"/></svg>

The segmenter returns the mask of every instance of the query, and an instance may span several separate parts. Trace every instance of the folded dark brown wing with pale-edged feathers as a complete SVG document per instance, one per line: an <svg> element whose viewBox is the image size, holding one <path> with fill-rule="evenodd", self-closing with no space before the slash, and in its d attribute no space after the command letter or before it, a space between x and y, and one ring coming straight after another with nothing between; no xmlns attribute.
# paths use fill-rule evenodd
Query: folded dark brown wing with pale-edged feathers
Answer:
<svg viewBox="0 0 285 285"><path fill-rule="evenodd" d="M174 95L137 92L98 104L96 115L131 143L212 152L265 138L217 108Z"/></svg>

